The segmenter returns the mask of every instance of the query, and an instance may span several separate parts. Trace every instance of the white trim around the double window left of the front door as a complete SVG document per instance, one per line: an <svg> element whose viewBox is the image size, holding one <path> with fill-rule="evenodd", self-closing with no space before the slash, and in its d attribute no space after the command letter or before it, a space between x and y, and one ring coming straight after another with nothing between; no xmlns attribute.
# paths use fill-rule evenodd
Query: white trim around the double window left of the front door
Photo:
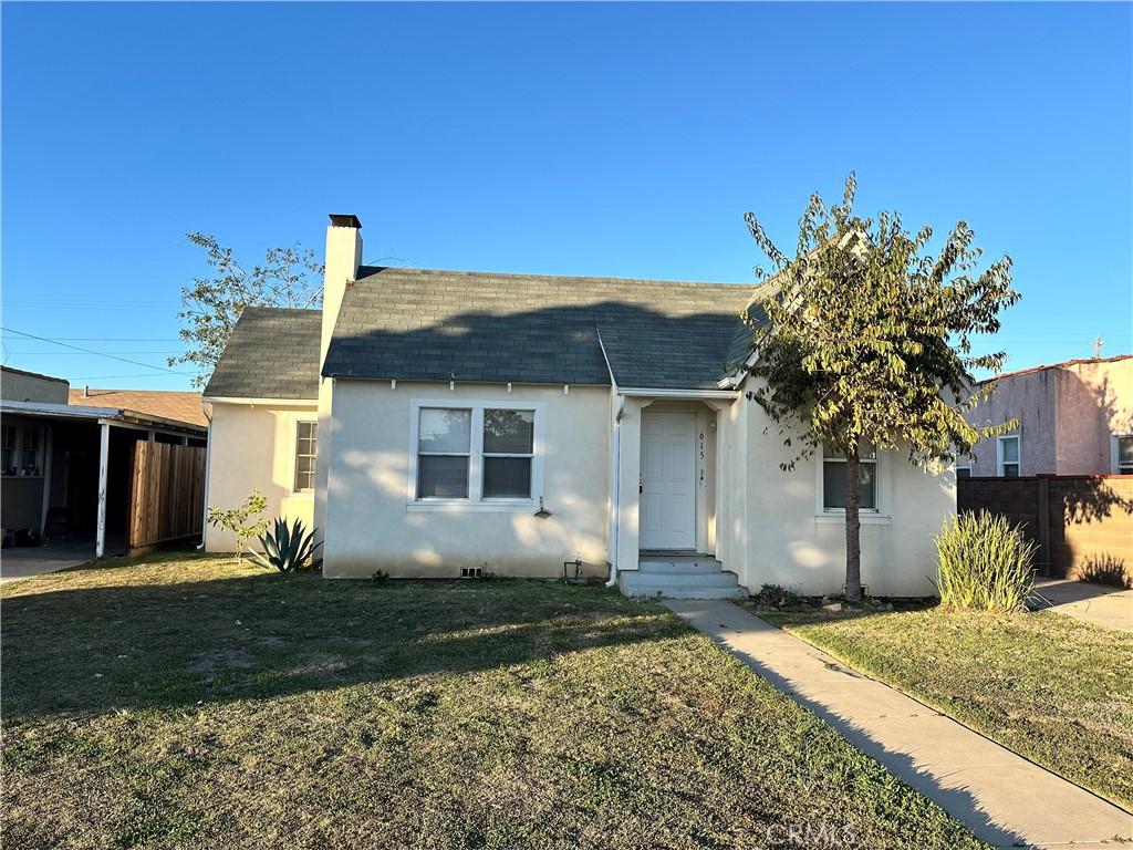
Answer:
<svg viewBox="0 0 1133 850"><path fill-rule="evenodd" d="M409 474L406 490L407 511L440 511L446 513L508 513L537 510L543 502L543 461L546 454L544 426L546 403L542 401L496 401L494 399L411 399L409 402ZM421 408L471 411L471 434L468 454L467 499L418 499L417 450ZM531 445L531 498L484 499L484 408L493 410L533 410L535 428ZM503 456L500 456L503 457ZM527 457L526 454L516 457Z"/></svg>

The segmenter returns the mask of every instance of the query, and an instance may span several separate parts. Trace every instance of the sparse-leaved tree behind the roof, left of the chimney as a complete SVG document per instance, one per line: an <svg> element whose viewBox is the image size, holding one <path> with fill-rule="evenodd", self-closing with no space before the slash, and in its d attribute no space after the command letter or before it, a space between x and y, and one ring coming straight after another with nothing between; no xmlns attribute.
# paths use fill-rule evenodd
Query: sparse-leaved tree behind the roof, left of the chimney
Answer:
<svg viewBox="0 0 1133 850"><path fill-rule="evenodd" d="M323 264L315 252L296 244L269 248L264 262L250 269L237 262L232 249L208 233L186 233L205 252L212 269L181 289L184 309L178 314L186 351L169 365L188 363L197 368L194 386L204 386L228 345L237 320L247 307L315 308L323 303Z"/></svg>

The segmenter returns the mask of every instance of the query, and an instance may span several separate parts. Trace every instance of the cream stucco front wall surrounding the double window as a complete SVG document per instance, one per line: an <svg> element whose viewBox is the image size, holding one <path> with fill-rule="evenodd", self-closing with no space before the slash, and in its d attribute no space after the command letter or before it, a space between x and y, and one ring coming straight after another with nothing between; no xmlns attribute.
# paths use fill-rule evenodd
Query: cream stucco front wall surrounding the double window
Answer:
<svg viewBox="0 0 1133 850"><path fill-rule="evenodd" d="M544 502L533 511L408 509L412 400L545 405ZM606 388L344 381L334 384L333 442L324 575L368 578L459 576L483 567L500 576L562 575L581 559L588 575L606 569L610 495L610 392Z"/></svg>

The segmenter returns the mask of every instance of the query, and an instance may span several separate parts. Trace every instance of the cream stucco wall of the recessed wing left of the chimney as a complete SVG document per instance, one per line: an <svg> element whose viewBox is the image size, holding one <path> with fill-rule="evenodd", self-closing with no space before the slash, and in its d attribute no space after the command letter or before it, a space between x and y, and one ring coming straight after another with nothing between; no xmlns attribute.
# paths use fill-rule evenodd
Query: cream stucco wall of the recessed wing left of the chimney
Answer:
<svg viewBox="0 0 1133 850"><path fill-rule="evenodd" d="M316 407L265 407L214 403L208 440L210 507L239 507L253 487L267 499L265 516L314 517L314 493L293 493L296 423L316 417ZM220 528L205 529L205 549L235 552L236 537Z"/></svg>

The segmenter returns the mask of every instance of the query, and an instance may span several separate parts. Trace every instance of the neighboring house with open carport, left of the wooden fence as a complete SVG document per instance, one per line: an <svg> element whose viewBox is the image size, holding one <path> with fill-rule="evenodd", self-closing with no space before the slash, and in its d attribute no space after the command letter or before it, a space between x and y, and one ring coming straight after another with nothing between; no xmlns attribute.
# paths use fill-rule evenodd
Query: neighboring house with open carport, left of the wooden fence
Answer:
<svg viewBox="0 0 1133 850"><path fill-rule="evenodd" d="M75 393L67 381L0 368L0 526L6 533L88 541L92 555L125 551L135 444L205 444L198 393L93 392L110 394L68 403ZM186 396L195 403L187 406L180 398ZM180 486L171 482L167 490Z"/></svg>

